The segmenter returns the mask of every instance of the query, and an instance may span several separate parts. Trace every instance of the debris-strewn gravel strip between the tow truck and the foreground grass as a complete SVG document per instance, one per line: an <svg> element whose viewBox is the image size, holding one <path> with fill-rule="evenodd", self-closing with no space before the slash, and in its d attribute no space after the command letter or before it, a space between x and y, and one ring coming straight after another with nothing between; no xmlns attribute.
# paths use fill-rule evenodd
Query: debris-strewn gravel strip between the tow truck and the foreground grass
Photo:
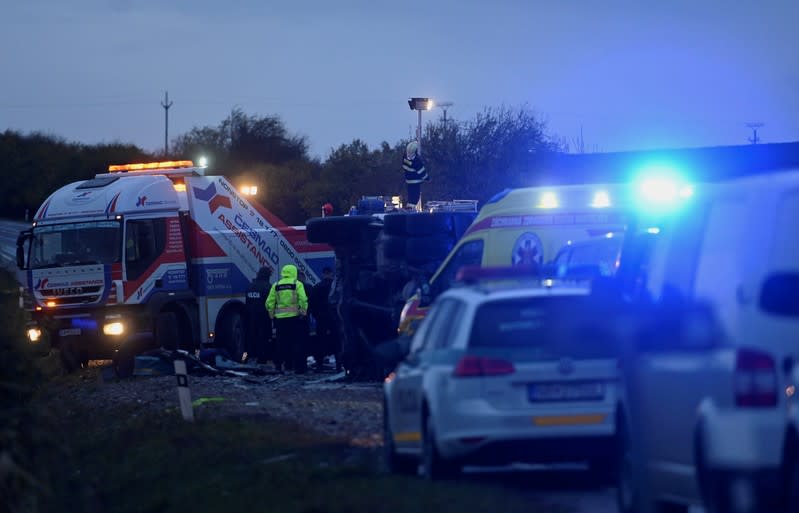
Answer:
<svg viewBox="0 0 799 513"><path fill-rule="evenodd" d="M112 377L108 362L92 362L76 375L54 380L46 400L67 403L69 397L94 411L138 406L154 411L179 411L174 376ZM220 416L271 417L296 422L310 430L341 438L360 447L382 445L382 384L344 383L330 372L303 375L265 372L260 376L189 376L198 420Z"/></svg>

